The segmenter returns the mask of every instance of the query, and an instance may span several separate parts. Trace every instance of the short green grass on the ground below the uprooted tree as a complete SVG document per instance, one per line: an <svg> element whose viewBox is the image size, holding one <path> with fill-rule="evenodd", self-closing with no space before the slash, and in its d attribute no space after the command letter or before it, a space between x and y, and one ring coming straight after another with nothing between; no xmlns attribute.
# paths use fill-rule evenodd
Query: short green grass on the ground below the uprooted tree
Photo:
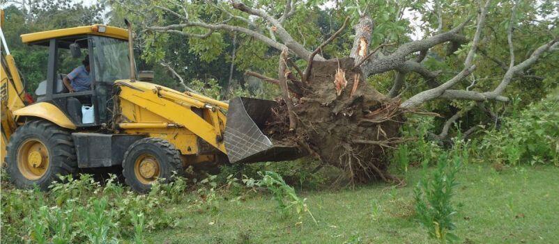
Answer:
<svg viewBox="0 0 559 244"><path fill-rule="evenodd" d="M282 218L270 195L220 201L213 212L174 205L172 229L146 233L146 243L430 243L413 219L413 168L404 188L372 184L300 193L319 221ZM555 243L559 240L559 168L465 165L454 203L454 231L464 243ZM359 242L360 241L360 242Z"/></svg>

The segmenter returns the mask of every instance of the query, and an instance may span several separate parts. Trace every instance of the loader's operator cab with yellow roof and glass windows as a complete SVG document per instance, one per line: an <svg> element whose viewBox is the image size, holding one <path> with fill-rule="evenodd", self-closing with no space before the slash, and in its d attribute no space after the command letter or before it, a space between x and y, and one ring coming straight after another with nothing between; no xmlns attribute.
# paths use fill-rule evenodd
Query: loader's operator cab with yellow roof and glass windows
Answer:
<svg viewBox="0 0 559 244"><path fill-rule="evenodd" d="M38 101L60 108L76 127L97 127L111 120L113 83L130 77L128 31L101 25L82 26L26 34L22 40L49 48L47 79L36 89ZM89 72L80 67L84 62L89 63ZM91 84L70 92L64 79L70 81L68 74L76 68L81 69L82 78L89 76ZM82 108L93 110L93 121L82 120Z"/></svg>

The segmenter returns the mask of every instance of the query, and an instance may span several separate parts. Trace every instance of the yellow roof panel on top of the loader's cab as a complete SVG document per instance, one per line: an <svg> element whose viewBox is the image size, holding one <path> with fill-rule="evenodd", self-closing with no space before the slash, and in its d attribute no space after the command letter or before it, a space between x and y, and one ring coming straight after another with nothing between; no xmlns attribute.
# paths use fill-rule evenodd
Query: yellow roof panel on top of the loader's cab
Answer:
<svg viewBox="0 0 559 244"><path fill-rule="evenodd" d="M128 31L118 27L105 26L105 32L95 31L95 28L99 26L105 26L101 24L94 24L92 26L79 26L67 29L59 29L53 31L41 31L37 33L29 33L22 35L22 42L38 42L40 40L48 40L52 38L61 38L70 35L102 35L109 38L118 38L121 40L128 40Z"/></svg>

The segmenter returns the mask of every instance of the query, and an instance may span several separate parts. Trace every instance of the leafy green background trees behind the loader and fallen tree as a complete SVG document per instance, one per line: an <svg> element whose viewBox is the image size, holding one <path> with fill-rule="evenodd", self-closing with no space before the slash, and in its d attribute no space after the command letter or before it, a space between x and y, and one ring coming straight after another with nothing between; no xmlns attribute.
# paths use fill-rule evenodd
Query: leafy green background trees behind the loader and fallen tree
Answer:
<svg viewBox="0 0 559 244"><path fill-rule="evenodd" d="M285 2L276 1L245 1L246 4L261 8L280 16L286 10ZM168 26L181 22L185 13L191 19L200 19L208 23L219 23L228 20L233 24L246 26L275 40L274 26L250 19L247 15L231 15L227 1L192 1L183 3L174 0L159 1L100 1L93 6L84 6L69 0L29 0L6 1L3 9L6 24L3 26L8 45L15 56L17 65L26 77L27 88L33 91L40 81L45 79L47 49L22 44L20 35L37 31L68 28L95 23L106 23L123 27L126 17L135 23L135 51L137 52L139 70L153 70L155 82L164 86L183 90L181 80L186 86L192 81L204 85L217 81L222 87L221 97L226 95L229 87L248 88L246 70L253 70L268 76L277 72L277 56L279 51L268 44L256 40L244 33L216 30L206 33L205 29L194 27L173 31L157 31L148 26ZM360 12L374 19L374 32L369 47L380 44L395 46L433 35L441 30L452 29L464 20L466 13L475 10L471 1L293 1L293 10L283 26L291 33L296 42L307 49L315 49L332 33L342 26L346 17L351 17L350 26L358 24ZM487 26L484 27L484 38L480 42L477 53L477 69L473 74L461 81L461 89L485 90L496 86L501 76L507 71L509 46L507 29L510 25L512 6L516 6L514 24L514 51L517 63L530 54L546 40L556 38L559 34L559 6L555 1L493 1L487 15ZM415 17L405 15L415 13ZM413 23L410 20L413 19ZM254 20L254 22L253 22ZM256 23L251 26L250 23ZM247 24L248 23L248 24ZM466 26L464 35L472 35L475 26ZM419 33L419 34L418 34ZM339 38L321 49L321 56L335 58L348 56L351 51L349 40L353 38L351 28L345 29ZM423 35L423 36L420 36ZM400 96L410 97L429 88L429 83L441 83L450 79L459 70L466 56L468 42L458 43L454 49L436 46L429 49L421 64L431 74L429 76L417 72L408 72L405 76ZM392 47L385 47L390 52ZM448 52L452 51L452 54ZM234 57L234 58L233 58ZM464 110L456 121L461 122L463 132L473 129L479 124L498 126L500 117L507 115L511 104L518 107L545 97L557 86L559 74L559 58L556 54L543 54L542 58L532 67L516 74L506 93L512 101L502 103L488 101L484 106L475 106L475 101L447 100L430 101L424 105L429 111L441 114L435 120L434 135L441 136L445 122L458 111ZM297 65L304 65L304 60L296 60ZM71 70L71 65L66 66ZM66 67L63 65L63 67ZM69 72L69 71L68 71ZM370 76L367 82L383 92L389 92L392 83L398 77L398 71L385 72ZM200 82L201 81L201 82ZM257 81L258 82L258 81ZM232 84L231 84L232 83ZM275 97L279 91L267 83L263 85L265 97ZM450 127L449 132L454 133ZM446 135L442 135L446 136Z"/></svg>

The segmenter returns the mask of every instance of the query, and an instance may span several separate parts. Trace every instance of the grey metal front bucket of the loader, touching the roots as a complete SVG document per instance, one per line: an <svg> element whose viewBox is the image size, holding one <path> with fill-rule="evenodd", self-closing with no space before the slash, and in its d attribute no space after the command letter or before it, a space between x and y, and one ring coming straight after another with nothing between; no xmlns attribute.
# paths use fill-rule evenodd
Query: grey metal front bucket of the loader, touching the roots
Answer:
<svg viewBox="0 0 559 244"><path fill-rule="evenodd" d="M296 147L274 145L262 129L277 102L248 97L229 101L225 149L231 163L287 161L303 156Z"/></svg>

